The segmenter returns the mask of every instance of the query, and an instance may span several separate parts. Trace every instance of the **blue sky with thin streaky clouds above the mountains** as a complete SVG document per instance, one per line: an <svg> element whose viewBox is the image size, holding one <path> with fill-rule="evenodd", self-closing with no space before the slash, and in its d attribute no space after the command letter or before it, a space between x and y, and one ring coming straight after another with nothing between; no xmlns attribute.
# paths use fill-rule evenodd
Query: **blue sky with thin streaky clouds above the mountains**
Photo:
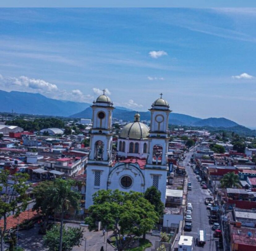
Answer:
<svg viewBox="0 0 256 251"><path fill-rule="evenodd" d="M254 8L0 9L0 89L256 127Z"/></svg>

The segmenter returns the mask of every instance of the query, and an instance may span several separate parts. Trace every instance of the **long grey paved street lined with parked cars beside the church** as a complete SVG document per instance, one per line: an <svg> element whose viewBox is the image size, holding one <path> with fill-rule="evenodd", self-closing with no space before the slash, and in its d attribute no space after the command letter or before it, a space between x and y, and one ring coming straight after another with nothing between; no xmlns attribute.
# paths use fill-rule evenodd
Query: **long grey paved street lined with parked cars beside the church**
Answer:
<svg viewBox="0 0 256 251"><path fill-rule="evenodd" d="M194 174L192 168L187 166L190 161L191 155L194 153L194 150L191 150L185 160L184 166L186 167L186 171L188 174L188 179L191 182L192 190L188 191L187 202L192 203L193 212L192 212L192 231L185 232L185 235L194 237L194 249L197 250L207 250L207 251L219 251L218 249L218 239L213 237L213 231L211 230L212 225L209 224L209 210L206 209L206 205L204 204L204 200L206 197L211 197L207 191L207 189L202 189L200 183L196 179L196 175ZM205 229L206 230L206 244L204 247L196 246L197 239L197 230Z"/></svg>

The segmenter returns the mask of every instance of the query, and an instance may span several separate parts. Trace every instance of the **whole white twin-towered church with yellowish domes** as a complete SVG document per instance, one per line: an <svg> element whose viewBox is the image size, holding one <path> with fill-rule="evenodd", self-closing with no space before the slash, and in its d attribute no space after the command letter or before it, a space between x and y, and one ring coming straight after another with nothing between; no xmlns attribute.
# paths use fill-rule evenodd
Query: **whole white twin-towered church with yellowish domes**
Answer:
<svg viewBox="0 0 256 251"><path fill-rule="evenodd" d="M140 115L121 131L117 141L117 158L112 156L113 102L100 95L93 101L90 153L87 163L85 208L93 204L92 195L100 189L119 189L144 193L155 186L165 203L168 171L169 104L162 98L151 105L150 128L140 122Z"/></svg>

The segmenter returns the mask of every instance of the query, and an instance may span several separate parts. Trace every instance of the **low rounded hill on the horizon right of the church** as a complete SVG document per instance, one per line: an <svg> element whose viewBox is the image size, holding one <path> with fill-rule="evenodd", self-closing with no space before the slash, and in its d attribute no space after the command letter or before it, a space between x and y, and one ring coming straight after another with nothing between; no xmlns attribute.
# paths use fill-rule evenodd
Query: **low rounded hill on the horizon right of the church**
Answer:
<svg viewBox="0 0 256 251"><path fill-rule="evenodd" d="M239 126L236 122L226 118L206 118L199 121L195 121L193 126L211 126L211 127L233 127Z"/></svg>

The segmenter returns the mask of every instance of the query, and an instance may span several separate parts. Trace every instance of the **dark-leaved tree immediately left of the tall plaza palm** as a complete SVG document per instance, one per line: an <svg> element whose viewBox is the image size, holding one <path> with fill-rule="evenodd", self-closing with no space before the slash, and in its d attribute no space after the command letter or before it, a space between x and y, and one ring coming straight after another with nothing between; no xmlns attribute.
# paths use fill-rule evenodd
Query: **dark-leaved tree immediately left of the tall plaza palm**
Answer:
<svg viewBox="0 0 256 251"><path fill-rule="evenodd" d="M32 210L40 212L44 216L43 232L46 231L49 216L54 213L54 201L50 196L53 187L53 181L43 181L33 189L35 204Z"/></svg>

